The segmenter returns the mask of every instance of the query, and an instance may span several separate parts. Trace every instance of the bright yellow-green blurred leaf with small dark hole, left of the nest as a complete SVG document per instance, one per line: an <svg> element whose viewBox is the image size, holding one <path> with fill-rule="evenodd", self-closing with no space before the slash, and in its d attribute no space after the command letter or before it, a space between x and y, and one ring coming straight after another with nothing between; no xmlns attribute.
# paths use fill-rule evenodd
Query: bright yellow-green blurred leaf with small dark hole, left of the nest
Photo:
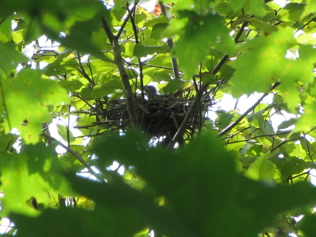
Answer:
<svg viewBox="0 0 316 237"><path fill-rule="evenodd" d="M17 128L26 143L37 143L42 123L50 122L47 106L69 101L68 94L56 81L42 79L40 70L21 70L13 79L2 82L7 116L6 132ZM23 122L23 123L22 123Z"/></svg>

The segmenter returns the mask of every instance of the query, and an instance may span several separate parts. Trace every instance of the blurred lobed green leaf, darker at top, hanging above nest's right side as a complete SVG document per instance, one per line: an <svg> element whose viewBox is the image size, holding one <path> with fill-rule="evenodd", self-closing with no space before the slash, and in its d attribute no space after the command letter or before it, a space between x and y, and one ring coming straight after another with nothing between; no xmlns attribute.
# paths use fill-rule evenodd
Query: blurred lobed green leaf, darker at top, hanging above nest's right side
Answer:
<svg viewBox="0 0 316 237"><path fill-rule="evenodd" d="M191 78L197 66L206 58L210 47L227 54L234 52L234 41L229 36L229 29L222 23L221 16L200 16L193 11L182 11L181 18L185 18L187 23L174 44L173 53L186 78ZM175 26L171 24L169 28L172 27Z"/></svg>

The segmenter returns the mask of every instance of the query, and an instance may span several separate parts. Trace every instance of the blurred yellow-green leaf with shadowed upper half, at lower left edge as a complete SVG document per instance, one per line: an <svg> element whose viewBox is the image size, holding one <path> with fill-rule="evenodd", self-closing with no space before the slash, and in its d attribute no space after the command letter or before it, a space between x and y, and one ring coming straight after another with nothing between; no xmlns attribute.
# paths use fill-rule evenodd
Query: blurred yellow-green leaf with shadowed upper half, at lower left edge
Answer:
<svg viewBox="0 0 316 237"><path fill-rule="evenodd" d="M20 154L2 154L2 215L11 212L37 215L38 211L27 204L31 197L35 197L38 203L52 206L47 192L60 190L65 184L53 152L54 147L38 143L35 146L26 146Z"/></svg>

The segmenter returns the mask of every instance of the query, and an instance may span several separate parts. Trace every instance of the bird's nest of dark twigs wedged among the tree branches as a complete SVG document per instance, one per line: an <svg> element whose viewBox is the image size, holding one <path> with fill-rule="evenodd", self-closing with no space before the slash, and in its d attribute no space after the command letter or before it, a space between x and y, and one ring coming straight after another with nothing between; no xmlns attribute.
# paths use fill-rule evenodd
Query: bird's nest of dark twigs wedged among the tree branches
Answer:
<svg viewBox="0 0 316 237"><path fill-rule="evenodd" d="M182 98L175 97L173 94L157 94L143 99L137 94L138 127L154 138L165 137L163 143L167 145L178 131L195 98L191 92L181 92ZM205 114L213 102L211 92L204 94L199 106L196 107L196 111L187 123L183 135L190 138L201 128L203 121L208 119ZM102 129L119 131L131 124L125 99L108 101L108 98L104 97L95 102L94 108L90 112L91 115L97 116L100 120L94 122L94 125L99 125ZM182 143L183 139L181 138L181 141L178 142Z"/></svg>

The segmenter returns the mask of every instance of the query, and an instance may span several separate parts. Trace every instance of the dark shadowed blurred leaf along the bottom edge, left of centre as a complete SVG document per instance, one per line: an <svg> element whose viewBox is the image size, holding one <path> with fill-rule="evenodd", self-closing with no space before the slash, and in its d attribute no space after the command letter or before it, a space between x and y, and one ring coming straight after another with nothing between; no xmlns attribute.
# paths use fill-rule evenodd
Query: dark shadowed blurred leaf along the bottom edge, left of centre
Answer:
<svg viewBox="0 0 316 237"><path fill-rule="evenodd" d="M116 211L114 211L114 208ZM119 210L120 209L120 210ZM143 220L137 216L137 212L113 206L113 210L83 210L80 208L64 208L59 210L47 209L36 218L30 218L18 214L11 214L19 233L16 236L34 237L42 236L126 236L145 228ZM60 222L60 220L64 220ZM76 223L74 225L74 223ZM58 226L58 228L56 228Z"/></svg>

